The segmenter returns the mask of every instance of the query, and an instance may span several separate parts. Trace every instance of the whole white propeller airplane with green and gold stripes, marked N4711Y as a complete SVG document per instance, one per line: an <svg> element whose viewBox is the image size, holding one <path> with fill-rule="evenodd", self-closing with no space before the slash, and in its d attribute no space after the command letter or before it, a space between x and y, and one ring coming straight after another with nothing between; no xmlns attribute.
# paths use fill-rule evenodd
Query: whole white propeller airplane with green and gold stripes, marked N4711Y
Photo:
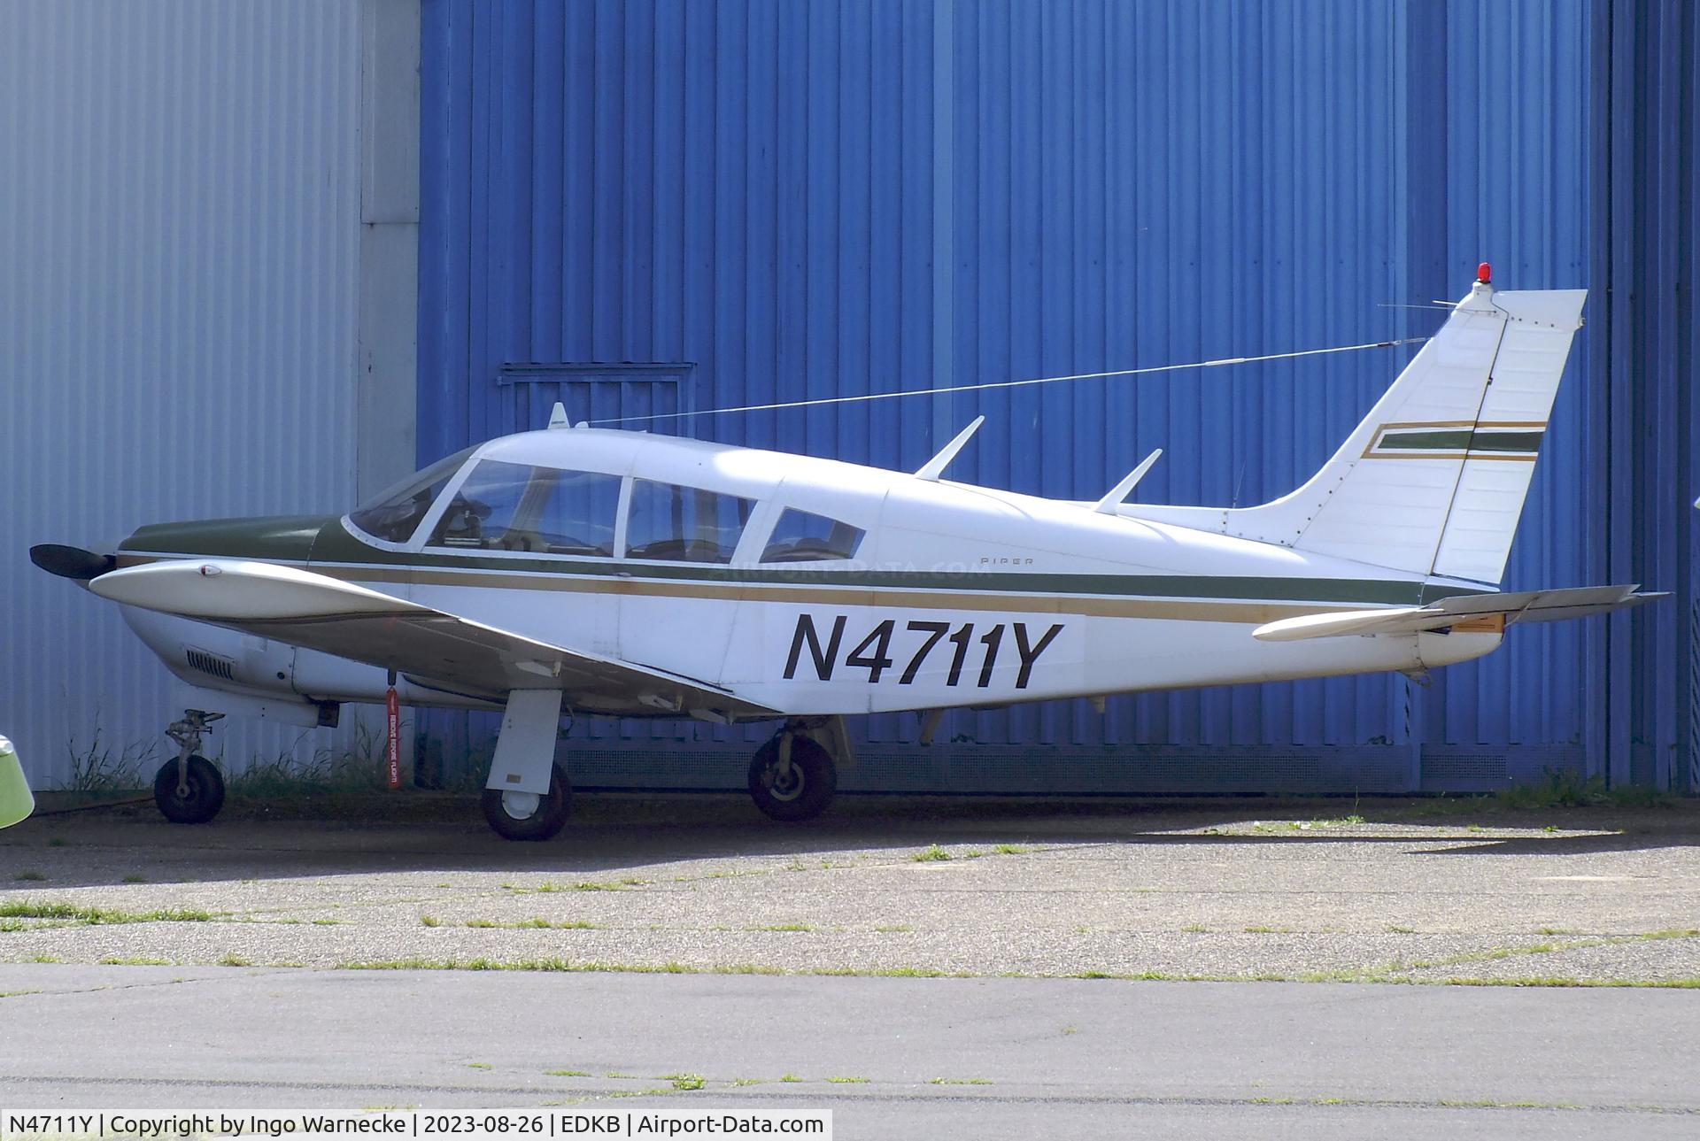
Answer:
<svg viewBox="0 0 1700 1141"><path fill-rule="evenodd" d="M750 792L818 815L848 714L937 711L1479 658L1513 622L1635 587L1501 593L1584 291L1486 267L1304 486L1261 507L1096 503L624 430L508 435L337 519L141 527L37 546L117 602L184 682L155 794L223 801L209 711L330 723L338 702L502 709L484 792L510 838L559 832L573 714L777 721ZM978 423L978 422L976 422ZM1154 457L1154 456L1153 456Z"/></svg>

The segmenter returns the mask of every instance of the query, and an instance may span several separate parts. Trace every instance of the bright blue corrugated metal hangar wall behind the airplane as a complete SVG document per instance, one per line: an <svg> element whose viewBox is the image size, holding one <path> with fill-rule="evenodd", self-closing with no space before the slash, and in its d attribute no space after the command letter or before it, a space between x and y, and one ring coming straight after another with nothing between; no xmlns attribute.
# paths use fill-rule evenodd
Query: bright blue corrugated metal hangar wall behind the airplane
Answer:
<svg viewBox="0 0 1700 1141"><path fill-rule="evenodd" d="M1421 335L1479 260L1591 289L1508 588L1646 582L1401 677L865 724L848 787L1692 789L1695 15L1481 3L430 0L420 461L573 418ZM1096 497L1251 503L1406 355L661 422ZM428 724L459 757L490 726ZM756 729L580 724L581 784L736 786Z"/></svg>

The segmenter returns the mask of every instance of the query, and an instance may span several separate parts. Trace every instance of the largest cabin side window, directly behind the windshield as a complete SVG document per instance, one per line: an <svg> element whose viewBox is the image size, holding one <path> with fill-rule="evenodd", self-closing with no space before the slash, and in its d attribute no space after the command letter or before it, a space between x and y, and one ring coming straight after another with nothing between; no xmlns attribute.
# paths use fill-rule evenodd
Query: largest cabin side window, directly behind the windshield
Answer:
<svg viewBox="0 0 1700 1141"><path fill-rule="evenodd" d="M607 558L619 500L619 476L486 459L456 491L430 542Z"/></svg>

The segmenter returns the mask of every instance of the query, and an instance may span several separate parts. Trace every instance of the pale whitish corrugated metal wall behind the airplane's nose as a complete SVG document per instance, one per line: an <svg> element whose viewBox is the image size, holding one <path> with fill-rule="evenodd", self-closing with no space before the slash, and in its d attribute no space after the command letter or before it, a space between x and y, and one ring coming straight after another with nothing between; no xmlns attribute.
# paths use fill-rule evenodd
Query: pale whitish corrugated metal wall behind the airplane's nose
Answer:
<svg viewBox="0 0 1700 1141"><path fill-rule="evenodd" d="M54 786L177 711L32 542L354 497L359 10L0 0L0 733ZM235 765L326 743L224 724Z"/></svg>

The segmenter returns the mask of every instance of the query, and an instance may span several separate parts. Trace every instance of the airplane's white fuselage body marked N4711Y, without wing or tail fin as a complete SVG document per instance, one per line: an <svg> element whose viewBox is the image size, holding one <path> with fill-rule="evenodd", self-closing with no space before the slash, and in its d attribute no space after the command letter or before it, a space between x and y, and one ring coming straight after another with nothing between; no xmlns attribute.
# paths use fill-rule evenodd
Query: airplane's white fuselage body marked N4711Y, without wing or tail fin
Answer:
<svg viewBox="0 0 1700 1141"><path fill-rule="evenodd" d="M1282 617L1486 588L1146 520L1137 507L1103 514L586 429L491 440L388 508L143 527L119 566L196 556L308 568L787 714L1420 672L1499 643L1498 633L1265 643L1251 631ZM126 616L202 687L321 702L377 701L386 687L374 667L165 614ZM406 677L403 701L479 706L500 694Z"/></svg>

